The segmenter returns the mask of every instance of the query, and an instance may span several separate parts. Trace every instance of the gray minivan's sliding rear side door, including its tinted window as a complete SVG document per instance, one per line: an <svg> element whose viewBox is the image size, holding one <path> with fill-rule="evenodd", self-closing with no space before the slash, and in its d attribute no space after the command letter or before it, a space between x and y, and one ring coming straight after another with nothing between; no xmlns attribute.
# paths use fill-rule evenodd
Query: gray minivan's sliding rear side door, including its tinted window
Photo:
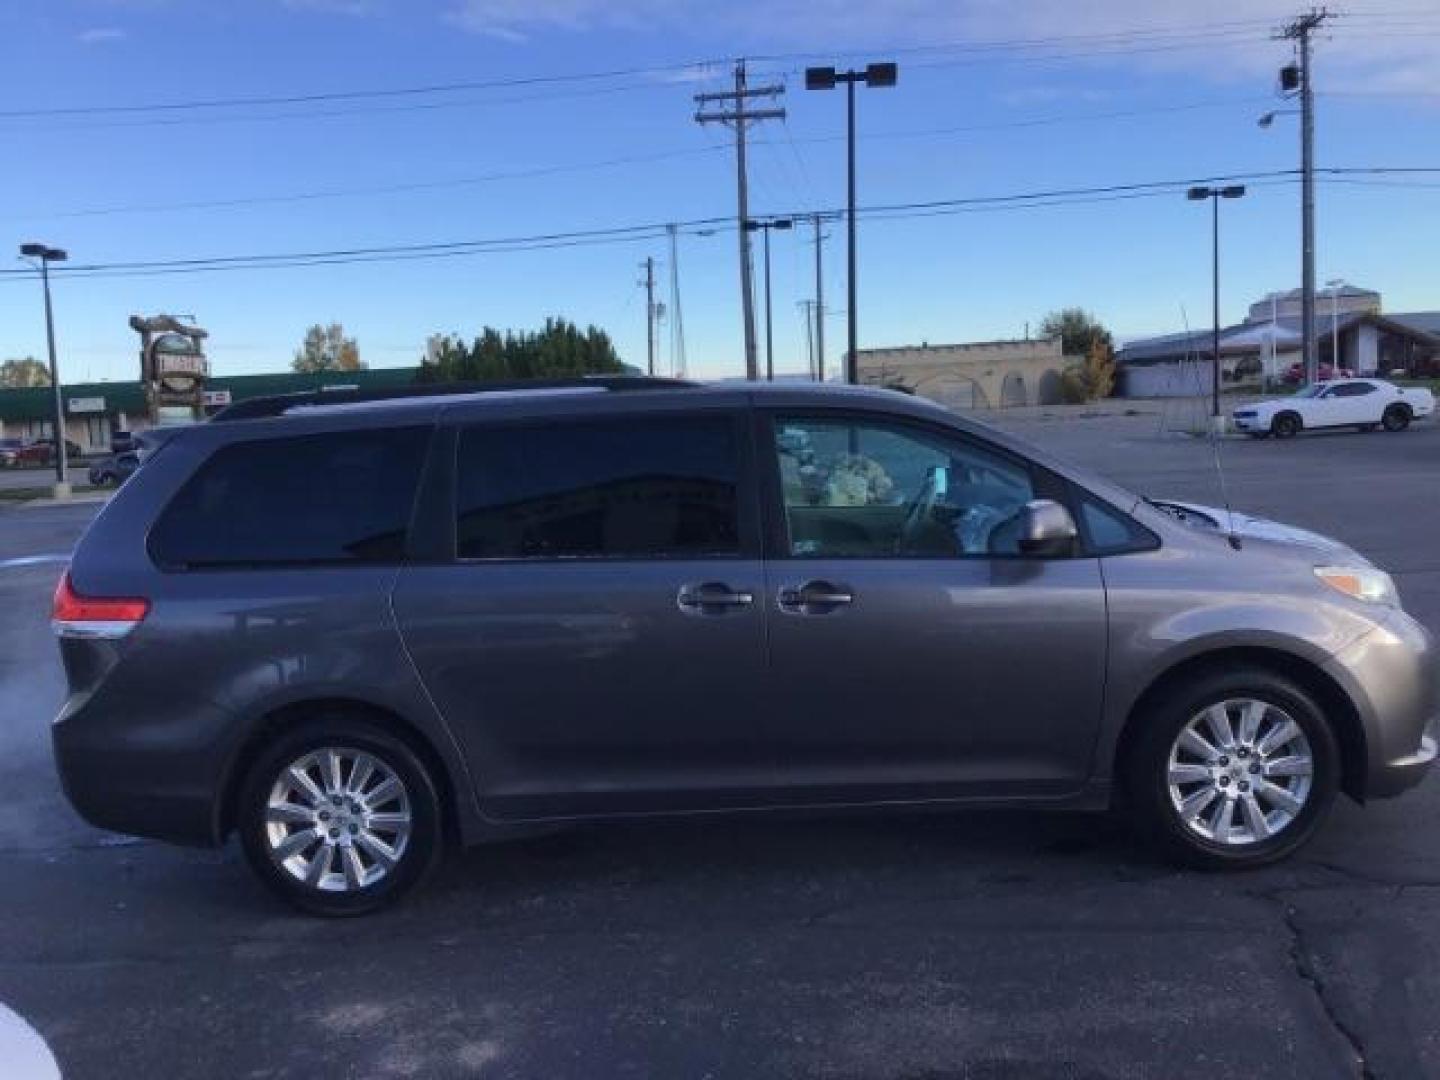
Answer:
<svg viewBox="0 0 1440 1080"><path fill-rule="evenodd" d="M743 410L454 431L449 550L395 590L495 819L747 805L763 570Z"/></svg>

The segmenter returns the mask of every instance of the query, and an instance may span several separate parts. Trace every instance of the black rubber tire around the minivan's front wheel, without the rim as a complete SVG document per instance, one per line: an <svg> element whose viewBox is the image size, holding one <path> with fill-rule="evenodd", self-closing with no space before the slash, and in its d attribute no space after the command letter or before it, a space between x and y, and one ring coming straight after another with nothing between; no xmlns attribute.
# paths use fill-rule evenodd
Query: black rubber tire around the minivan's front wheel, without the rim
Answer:
<svg viewBox="0 0 1440 1080"><path fill-rule="evenodd" d="M1289 714L1309 743L1313 770L1303 805L1289 824L1266 840L1225 844L1201 835L1182 819L1171 795L1169 768L1172 747L1189 721L1212 704L1237 698L1263 701ZM1139 730L1123 762L1130 812L1142 835L1166 858L1184 865L1251 870L1283 860L1315 835L1339 791L1339 747L1325 714L1302 687L1264 668L1217 671L1181 683L1136 721ZM1241 814L1238 806L1236 814Z"/></svg>

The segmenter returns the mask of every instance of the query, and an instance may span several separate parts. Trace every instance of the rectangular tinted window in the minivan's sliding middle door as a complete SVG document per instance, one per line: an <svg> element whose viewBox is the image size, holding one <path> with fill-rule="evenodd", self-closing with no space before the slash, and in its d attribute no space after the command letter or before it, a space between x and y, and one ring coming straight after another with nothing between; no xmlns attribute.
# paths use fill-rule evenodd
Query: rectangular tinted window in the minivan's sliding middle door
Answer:
<svg viewBox="0 0 1440 1080"><path fill-rule="evenodd" d="M704 557L740 552L727 416L469 428L461 559Z"/></svg>

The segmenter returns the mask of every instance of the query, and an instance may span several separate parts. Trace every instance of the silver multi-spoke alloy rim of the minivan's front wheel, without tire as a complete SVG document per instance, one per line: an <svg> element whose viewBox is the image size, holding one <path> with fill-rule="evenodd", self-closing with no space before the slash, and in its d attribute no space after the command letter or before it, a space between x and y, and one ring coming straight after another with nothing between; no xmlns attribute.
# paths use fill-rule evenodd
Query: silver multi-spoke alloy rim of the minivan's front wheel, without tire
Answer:
<svg viewBox="0 0 1440 1080"><path fill-rule="evenodd" d="M1192 834L1225 847L1260 844L1305 809L1315 753L1286 710L1228 698L1200 710L1171 746L1171 805Z"/></svg>

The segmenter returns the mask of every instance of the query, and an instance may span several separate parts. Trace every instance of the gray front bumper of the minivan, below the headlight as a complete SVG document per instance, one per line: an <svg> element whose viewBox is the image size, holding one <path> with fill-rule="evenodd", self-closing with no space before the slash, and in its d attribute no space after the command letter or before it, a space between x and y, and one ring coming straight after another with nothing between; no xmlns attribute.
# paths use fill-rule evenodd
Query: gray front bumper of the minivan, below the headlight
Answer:
<svg viewBox="0 0 1440 1080"><path fill-rule="evenodd" d="M1362 796L1390 798L1420 783L1440 753L1440 657L1426 628L1394 611L1326 670L1364 729Z"/></svg>

